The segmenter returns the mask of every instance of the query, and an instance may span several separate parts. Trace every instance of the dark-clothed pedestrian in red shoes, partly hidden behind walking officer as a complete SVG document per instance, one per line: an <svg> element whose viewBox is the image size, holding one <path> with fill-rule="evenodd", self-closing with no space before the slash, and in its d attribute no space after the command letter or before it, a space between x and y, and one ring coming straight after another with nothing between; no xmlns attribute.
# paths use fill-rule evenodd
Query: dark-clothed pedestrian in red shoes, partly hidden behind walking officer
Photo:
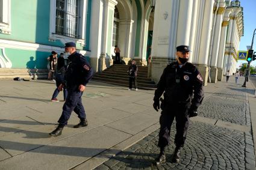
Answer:
<svg viewBox="0 0 256 170"><path fill-rule="evenodd" d="M60 90L58 90L58 87L61 84L64 84L65 71L66 71L66 67L65 67L63 53L60 53L60 56L58 57L58 64L57 64L57 70L56 70L56 86L57 86L57 88L55 89L54 94L52 94L52 99L51 99L52 102L59 102L59 100L57 99L58 93L60 93ZM66 98L67 98L66 87L63 87L63 97L64 97L63 101L66 101Z"/></svg>

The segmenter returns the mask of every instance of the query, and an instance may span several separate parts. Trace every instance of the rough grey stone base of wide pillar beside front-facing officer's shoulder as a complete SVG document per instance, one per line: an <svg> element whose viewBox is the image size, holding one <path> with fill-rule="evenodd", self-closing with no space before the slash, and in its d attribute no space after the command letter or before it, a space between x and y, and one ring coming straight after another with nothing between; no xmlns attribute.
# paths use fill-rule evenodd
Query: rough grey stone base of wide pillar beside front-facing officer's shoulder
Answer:
<svg viewBox="0 0 256 170"><path fill-rule="evenodd" d="M151 77L151 79L155 83L158 83L160 80L161 74L163 74L164 68L166 68L166 65L172 61L175 61L175 59L153 57L151 60L151 67L149 67L149 69L151 69L149 70L149 72L151 73L149 77Z"/></svg>

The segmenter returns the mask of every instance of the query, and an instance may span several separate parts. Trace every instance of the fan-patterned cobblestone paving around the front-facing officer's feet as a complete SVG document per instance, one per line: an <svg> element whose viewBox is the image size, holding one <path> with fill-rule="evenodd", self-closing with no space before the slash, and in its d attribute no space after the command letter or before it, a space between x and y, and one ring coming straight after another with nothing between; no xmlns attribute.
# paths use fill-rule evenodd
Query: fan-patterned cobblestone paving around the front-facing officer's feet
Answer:
<svg viewBox="0 0 256 170"><path fill-rule="evenodd" d="M206 93L199 116L251 127L248 90L222 82ZM215 123L215 124L216 124ZM190 121L180 163L171 163L175 145L175 123L170 132L167 162L155 165L159 129L95 169L255 169L251 132L241 132L214 124Z"/></svg>

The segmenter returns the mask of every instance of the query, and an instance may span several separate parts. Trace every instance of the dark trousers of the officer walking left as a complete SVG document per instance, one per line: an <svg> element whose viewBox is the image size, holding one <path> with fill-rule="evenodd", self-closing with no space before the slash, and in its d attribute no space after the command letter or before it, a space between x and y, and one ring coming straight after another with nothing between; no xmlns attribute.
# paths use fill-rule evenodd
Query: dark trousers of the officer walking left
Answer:
<svg viewBox="0 0 256 170"><path fill-rule="evenodd" d="M81 97L83 92L78 90L78 86L67 89L67 99L63 105L63 111L58 123L67 125L67 121L70 118L72 111L74 111L80 120L86 119L86 112Z"/></svg>

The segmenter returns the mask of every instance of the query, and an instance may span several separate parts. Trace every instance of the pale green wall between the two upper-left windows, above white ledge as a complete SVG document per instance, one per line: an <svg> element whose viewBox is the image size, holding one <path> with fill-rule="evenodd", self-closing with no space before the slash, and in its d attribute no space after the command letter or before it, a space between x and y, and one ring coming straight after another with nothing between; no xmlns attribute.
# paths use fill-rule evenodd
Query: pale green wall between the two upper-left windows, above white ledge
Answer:
<svg viewBox="0 0 256 170"><path fill-rule="evenodd" d="M48 41L49 9L49 0L12 0L11 34L0 38L62 47L60 41Z"/></svg>

